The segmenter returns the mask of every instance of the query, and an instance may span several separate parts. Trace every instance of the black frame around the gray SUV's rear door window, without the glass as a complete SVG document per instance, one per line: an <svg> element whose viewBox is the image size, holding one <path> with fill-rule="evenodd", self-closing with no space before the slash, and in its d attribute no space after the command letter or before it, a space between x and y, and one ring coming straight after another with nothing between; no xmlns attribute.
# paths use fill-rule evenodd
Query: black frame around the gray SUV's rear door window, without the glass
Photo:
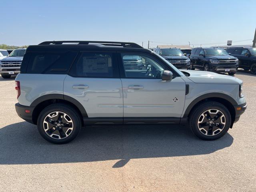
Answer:
<svg viewBox="0 0 256 192"><path fill-rule="evenodd" d="M71 69L73 67L73 65L76 65L77 62L80 60L80 58L82 57L83 53L108 53L108 54L112 54L113 56L113 61L112 61L112 65L113 65L113 76L112 77L104 77L104 76L78 76L78 75L73 75L70 74ZM114 68L117 68L116 70L114 70ZM104 51L104 50L82 50L79 51L78 55L76 56L76 59L74 60L74 62L72 63L72 65L70 66L70 70L68 71L68 75L71 77L76 77L76 78L112 78L112 79L120 79L120 72L119 72L119 65L118 65L118 59L117 59L117 55L115 51Z"/></svg>

